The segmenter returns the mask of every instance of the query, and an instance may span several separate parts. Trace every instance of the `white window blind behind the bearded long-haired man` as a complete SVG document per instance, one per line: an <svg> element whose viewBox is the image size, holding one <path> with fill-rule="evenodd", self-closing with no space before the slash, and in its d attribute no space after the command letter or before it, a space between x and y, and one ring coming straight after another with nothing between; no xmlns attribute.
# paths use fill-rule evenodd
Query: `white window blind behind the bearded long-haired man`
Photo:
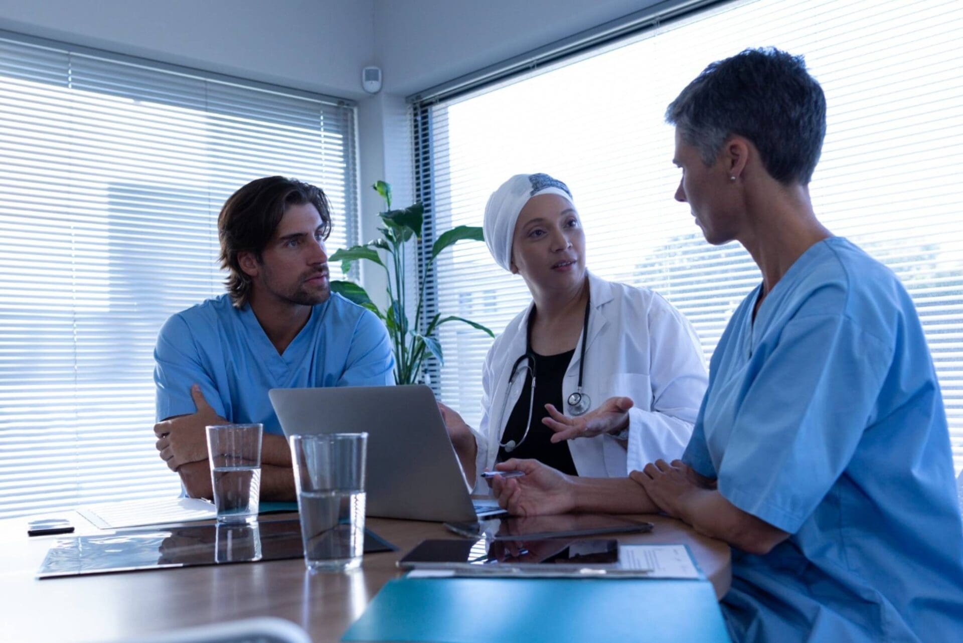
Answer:
<svg viewBox="0 0 963 643"><path fill-rule="evenodd" d="M354 108L0 35L0 518L179 492L154 449L165 320L224 292L217 216L254 178L355 241ZM331 266L332 278L340 278Z"/></svg>

